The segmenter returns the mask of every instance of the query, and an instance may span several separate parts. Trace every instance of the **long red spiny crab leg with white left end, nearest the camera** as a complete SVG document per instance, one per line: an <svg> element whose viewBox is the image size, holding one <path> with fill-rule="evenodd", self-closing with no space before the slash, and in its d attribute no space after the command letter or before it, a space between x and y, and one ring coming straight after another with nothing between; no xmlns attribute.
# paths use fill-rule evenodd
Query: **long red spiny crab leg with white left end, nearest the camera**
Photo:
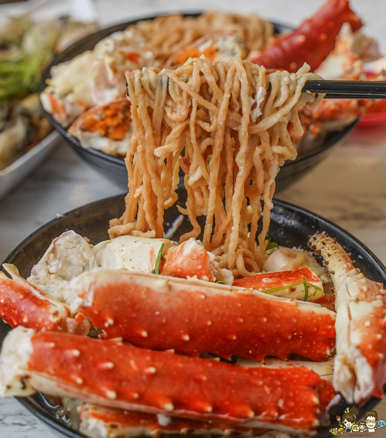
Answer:
<svg viewBox="0 0 386 438"><path fill-rule="evenodd" d="M309 432L321 378L307 368L246 368L60 332L9 332L0 395L36 391L121 409Z"/></svg>

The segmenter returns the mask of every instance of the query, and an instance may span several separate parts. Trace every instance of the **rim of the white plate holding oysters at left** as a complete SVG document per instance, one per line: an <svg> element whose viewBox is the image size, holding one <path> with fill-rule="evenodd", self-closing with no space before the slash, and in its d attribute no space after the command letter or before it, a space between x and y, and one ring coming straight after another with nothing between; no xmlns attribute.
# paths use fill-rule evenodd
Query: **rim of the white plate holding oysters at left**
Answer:
<svg viewBox="0 0 386 438"><path fill-rule="evenodd" d="M0 170L0 198L11 191L35 167L40 164L49 152L58 144L60 135L53 131L36 146L3 170Z"/></svg>

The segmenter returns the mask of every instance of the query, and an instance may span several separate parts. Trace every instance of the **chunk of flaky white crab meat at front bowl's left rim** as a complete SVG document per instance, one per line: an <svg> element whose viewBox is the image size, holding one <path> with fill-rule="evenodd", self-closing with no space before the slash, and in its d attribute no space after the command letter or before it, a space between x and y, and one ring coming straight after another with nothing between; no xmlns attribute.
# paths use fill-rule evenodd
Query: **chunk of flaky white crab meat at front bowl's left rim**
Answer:
<svg viewBox="0 0 386 438"><path fill-rule="evenodd" d="M90 245L70 230L52 241L27 280L66 303L69 282L77 275L96 268L97 260Z"/></svg>

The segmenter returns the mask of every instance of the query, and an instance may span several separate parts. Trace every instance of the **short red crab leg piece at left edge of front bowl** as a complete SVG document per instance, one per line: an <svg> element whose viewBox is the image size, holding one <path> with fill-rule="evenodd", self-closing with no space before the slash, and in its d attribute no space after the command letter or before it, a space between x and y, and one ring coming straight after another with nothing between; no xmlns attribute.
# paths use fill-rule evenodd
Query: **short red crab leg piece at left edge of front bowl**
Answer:
<svg viewBox="0 0 386 438"><path fill-rule="evenodd" d="M88 334L90 323L82 313L70 318L68 306L20 277L14 265L3 267L12 275L12 280L5 274L0 276L0 315L12 328L23 326L36 331Z"/></svg>

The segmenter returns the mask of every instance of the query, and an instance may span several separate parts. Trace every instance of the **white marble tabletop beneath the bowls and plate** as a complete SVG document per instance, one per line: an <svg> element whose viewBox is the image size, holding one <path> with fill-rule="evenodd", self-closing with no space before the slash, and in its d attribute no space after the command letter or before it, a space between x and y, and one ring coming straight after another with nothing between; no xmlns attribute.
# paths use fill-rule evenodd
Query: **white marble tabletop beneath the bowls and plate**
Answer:
<svg viewBox="0 0 386 438"><path fill-rule="evenodd" d="M295 25L319 7L321 0L240 0L242 12ZM351 1L368 23L386 53L386 2ZM160 11L200 10L208 2L178 0L97 0L102 25ZM234 10L231 0L215 0L211 7ZM64 142L21 185L0 200L0 261L40 225L57 213L116 195L122 190L99 175ZM354 131L327 160L303 180L277 195L278 199L314 211L339 224L365 243L386 264L386 125ZM377 407L386 419L386 403ZM1 438L53 438L56 435L15 399L0 400Z"/></svg>

